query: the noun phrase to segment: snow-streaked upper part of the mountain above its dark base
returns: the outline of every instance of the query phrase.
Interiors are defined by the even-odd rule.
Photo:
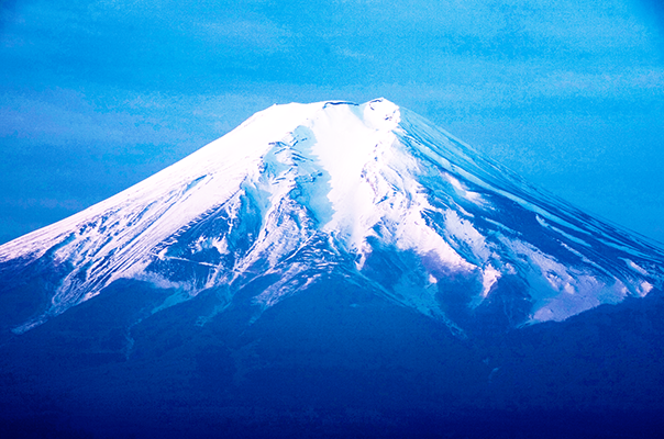
[[[204,324],[259,284],[256,319],[336,273],[463,334],[487,313],[516,327],[645,296],[663,262],[389,101],[292,103],[0,246],[0,304],[22,334],[134,279],[169,291],[152,313],[215,291]]]

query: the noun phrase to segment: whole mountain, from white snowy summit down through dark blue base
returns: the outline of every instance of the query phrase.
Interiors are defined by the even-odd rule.
[[[663,262],[389,101],[275,105],[0,246],[2,419],[518,437],[538,413],[552,437],[571,414],[648,436]]]

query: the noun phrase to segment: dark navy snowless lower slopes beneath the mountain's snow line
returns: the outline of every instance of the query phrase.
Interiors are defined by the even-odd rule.
[[[251,324],[251,304],[197,324],[213,295],[135,323],[162,293],[131,282],[107,293],[0,346],[0,438],[664,431],[660,292],[468,338],[333,281]]]

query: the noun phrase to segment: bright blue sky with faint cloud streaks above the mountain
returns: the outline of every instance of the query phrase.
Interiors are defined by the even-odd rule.
[[[273,103],[378,97],[664,243],[659,1],[0,4],[0,243]]]

